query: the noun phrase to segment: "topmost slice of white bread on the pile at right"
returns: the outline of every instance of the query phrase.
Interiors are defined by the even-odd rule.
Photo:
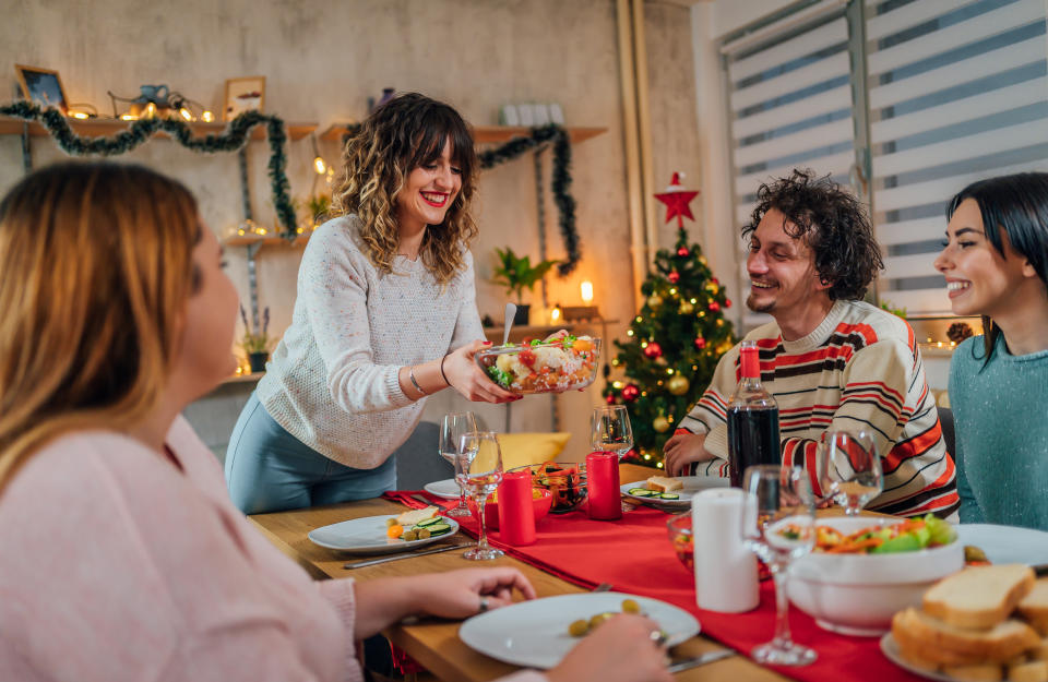
[[[989,629],[1004,621],[1033,587],[1029,566],[975,566],[936,583],[925,593],[924,609],[957,627]]]

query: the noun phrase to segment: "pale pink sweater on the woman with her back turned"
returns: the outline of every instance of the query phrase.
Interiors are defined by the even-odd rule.
[[[362,680],[353,582],[312,581],[259,534],[181,418],[168,446],[182,471],[68,435],[0,494],[0,680]]]

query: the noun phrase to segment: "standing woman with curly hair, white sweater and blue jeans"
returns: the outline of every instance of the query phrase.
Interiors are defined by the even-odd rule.
[[[468,249],[476,172],[462,117],[415,93],[348,141],[336,217],[310,238],[291,326],[227,450],[245,513],[381,495],[426,396],[517,397],[473,361],[487,343]]]

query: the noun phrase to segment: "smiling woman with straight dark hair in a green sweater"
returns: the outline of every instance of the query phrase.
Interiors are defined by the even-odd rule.
[[[961,521],[1048,530],[1048,174],[969,184],[946,217],[936,267],[984,330],[950,364]]]

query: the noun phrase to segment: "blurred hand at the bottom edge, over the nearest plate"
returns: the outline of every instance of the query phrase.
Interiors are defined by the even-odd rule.
[[[669,682],[666,650],[652,633],[658,623],[622,613],[586,635],[548,671],[549,682]]]

